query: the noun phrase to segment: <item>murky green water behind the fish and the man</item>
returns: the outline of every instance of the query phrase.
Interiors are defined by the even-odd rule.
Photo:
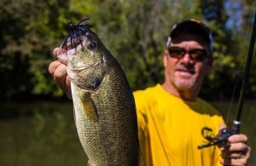
[[[241,133],[256,147],[255,100],[246,101]],[[212,102],[227,117],[230,101]],[[236,110],[236,108],[233,108]],[[231,112],[230,115],[235,115]],[[230,116],[230,122],[234,116]],[[37,101],[2,103],[0,108],[1,166],[84,166],[87,163],[79,142],[71,102]],[[256,165],[256,155],[248,166]]]

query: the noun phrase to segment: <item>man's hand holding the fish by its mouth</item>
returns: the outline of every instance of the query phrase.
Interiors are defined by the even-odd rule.
[[[60,48],[55,48],[53,54],[56,56]],[[49,74],[54,77],[55,83],[61,87],[63,92],[67,94],[69,99],[72,99],[70,78],[67,76],[67,64],[61,63],[59,60],[55,60],[49,64]]]

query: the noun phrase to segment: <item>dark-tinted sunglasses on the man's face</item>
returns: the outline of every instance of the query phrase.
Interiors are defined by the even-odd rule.
[[[169,55],[172,58],[181,59],[183,56],[187,53],[189,53],[189,56],[192,60],[205,60],[208,56],[206,49],[183,49],[180,47],[169,47],[168,48]]]

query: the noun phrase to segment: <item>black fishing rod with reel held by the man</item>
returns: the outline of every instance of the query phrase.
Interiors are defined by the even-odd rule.
[[[247,88],[247,82],[248,82],[250,68],[251,68],[252,59],[253,59],[253,49],[254,49],[255,37],[256,37],[256,11],[254,14],[253,31],[252,31],[252,36],[251,36],[251,40],[249,43],[249,50],[248,50],[248,54],[247,54],[247,63],[246,63],[244,75],[242,78],[241,91],[240,91],[240,96],[239,96],[239,100],[238,100],[236,119],[234,120],[231,128],[220,129],[218,132],[218,135],[216,135],[216,137],[205,136],[204,133],[207,131],[212,131],[212,129],[203,128],[201,131],[202,135],[207,140],[209,140],[209,143],[207,143],[205,145],[198,146],[198,149],[202,149],[202,148],[209,147],[209,146],[215,146],[215,145],[225,146],[225,145],[227,145],[227,140],[230,137],[230,135],[236,135],[240,132],[241,112],[242,112],[242,107],[243,107],[243,103],[245,100],[245,92],[246,92],[246,88]]]

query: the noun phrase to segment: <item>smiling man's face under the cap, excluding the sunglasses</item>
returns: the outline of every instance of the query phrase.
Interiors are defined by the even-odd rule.
[[[182,58],[171,57],[166,50],[164,66],[166,81],[183,91],[199,91],[203,77],[212,69],[212,59],[194,60],[188,53],[192,49],[207,49],[207,44],[201,42],[201,37],[193,35],[179,35],[170,43],[169,47],[179,47],[186,50]]]

